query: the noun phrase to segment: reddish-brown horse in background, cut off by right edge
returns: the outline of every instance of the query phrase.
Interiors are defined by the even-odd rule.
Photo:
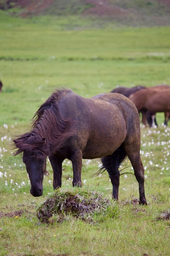
[[[170,86],[157,85],[142,89],[129,96],[137,107],[138,112],[142,113],[142,123],[147,126],[147,111],[152,116],[152,124],[157,112],[165,112],[165,124],[170,112]]]

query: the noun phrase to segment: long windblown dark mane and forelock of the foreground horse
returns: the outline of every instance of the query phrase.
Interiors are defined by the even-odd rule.
[[[48,152],[56,152],[64,145],[72,134],[70,120],[63,118],[59,111],[58,99],[67,92],[66,89],[56,90],[36,111],[32,119],[30,132],[17,136],[14,155],[23,151],[33,153],[37,158],[48,156]]]

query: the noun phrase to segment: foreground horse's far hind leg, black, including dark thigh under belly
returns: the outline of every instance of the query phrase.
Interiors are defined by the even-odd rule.
[[[112,155],[104,156],[101,158],[102,167],[100,171],[107,170],[110,180],[113,186],[113,193],[112,197],[115,200],[118,200],[118,192],[119,192],[119,179],[120,179],[120,172],[118,170],[120,164],[126,157],[126,152],[120,146]]]

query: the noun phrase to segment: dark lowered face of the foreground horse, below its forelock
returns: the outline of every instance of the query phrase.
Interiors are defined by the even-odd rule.
[[[28,154],[24,151],[22,159],[26,165],[26,171],[28,172],[29,179],[31,181],[31,195],[42,196],[42,182],[46,171],[46,158],[38,159],[33,156],[33,154]]]

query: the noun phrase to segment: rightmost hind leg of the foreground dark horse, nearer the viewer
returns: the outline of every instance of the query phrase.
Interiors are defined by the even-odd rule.
[[[139,184],[139,204],[147,204],[144,194],[144,166],[140,158],[140,151],[134,151],[134,145],[131,145],[128,150],[126,148],[126,153],[133,166],[135,177]]]

